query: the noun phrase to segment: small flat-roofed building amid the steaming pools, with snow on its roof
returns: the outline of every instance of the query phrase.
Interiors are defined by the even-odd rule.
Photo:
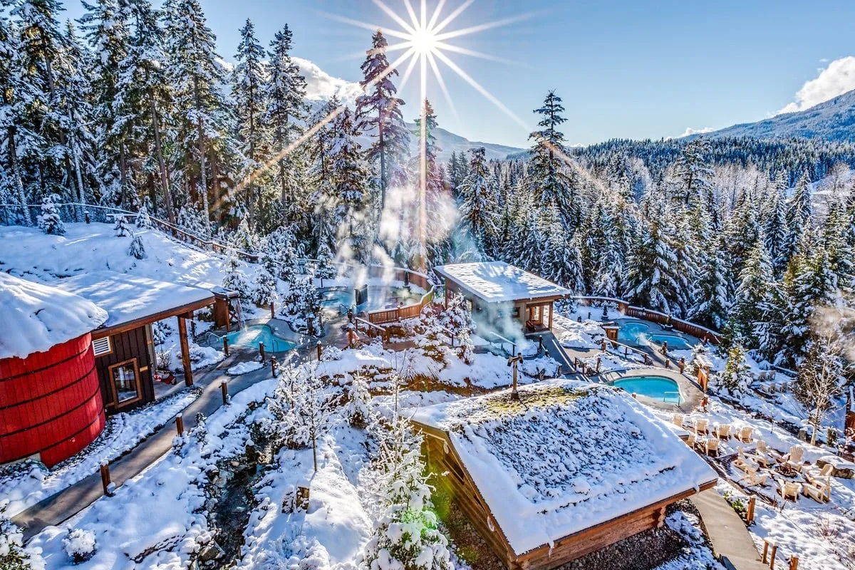
[[[504,261],[456,263],[434,267],[445,278],[445,302],[455,293],[466,298],[476,322],[525,332],[552,328],[552,304],[572,291]]]

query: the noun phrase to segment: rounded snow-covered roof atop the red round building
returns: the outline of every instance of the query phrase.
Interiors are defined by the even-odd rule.
[[[101,326],[107,311],[68,291],[0,273],[0,358],[25,358]]]

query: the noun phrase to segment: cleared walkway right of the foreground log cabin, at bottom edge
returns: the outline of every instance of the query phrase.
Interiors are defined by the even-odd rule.
[[[689,497],[704,520],[712,551],[728,570],[764,570],[754,540],[739,514],[715,489]]]

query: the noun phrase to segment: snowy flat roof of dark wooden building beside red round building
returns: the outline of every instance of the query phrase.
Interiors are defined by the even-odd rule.
[[[214,303],[211,291],[114,271],[92,271],[60,279],[56,286],[106,309],[104,326],[119,326],[192,303]]]

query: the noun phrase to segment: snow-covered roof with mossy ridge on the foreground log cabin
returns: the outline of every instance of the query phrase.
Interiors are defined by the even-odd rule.
[[[644,406],[604,385],[546,380],[420,408],[445,432],[516,555],[697,490],[716,473]]]

